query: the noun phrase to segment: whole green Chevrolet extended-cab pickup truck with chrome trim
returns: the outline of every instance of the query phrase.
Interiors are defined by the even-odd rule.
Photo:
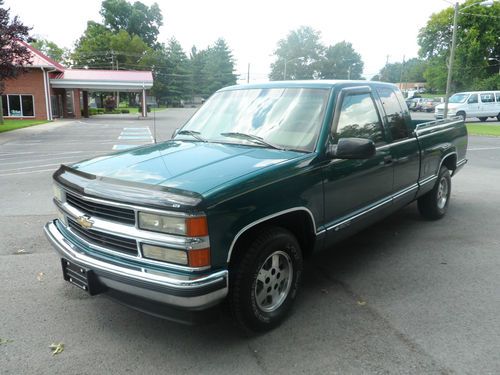
[[[225,301],[265,331],[304,258],[415,200],[443,217],[466,150],[461,119],[412,122],[391,84],[233,86],[169,141],[61,166],[45,232],[91,295],[181,322]]]

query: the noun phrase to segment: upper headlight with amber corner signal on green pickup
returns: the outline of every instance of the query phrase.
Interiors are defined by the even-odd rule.
[[[190,237],[208,235],[207,218],[205,216],[186,218],[139,212],[139,228]]]

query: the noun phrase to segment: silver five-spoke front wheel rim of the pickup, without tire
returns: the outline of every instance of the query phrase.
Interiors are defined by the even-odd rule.
[[[262,264],[255,280],[255,301],[260,310],[271,312],[285,301],[293,280],[293,265],[290,256],[275,251]]]

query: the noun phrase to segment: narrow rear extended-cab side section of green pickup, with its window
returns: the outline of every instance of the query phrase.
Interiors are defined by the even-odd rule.
[[[401,92],[391,87],[378,87],[376,91],[390,137],[386,147],[390,150],[394,166],[394,205],[398,208],[411,202],[417,193],[420,170],[418,141],[410,128],[411,117]]]

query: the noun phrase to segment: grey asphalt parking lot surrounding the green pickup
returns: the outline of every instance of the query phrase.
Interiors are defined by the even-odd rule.
[[[499,138],[470,138],[445,219],[410,205],[307,262],[294,314],[266,335],[242,338],[225,315],[181,326],[64,282],[42,234],[51,173],[167,139],[192,112],[156,113],[156,131],[101,116],[0,134],[0,373],[498,374]]]

